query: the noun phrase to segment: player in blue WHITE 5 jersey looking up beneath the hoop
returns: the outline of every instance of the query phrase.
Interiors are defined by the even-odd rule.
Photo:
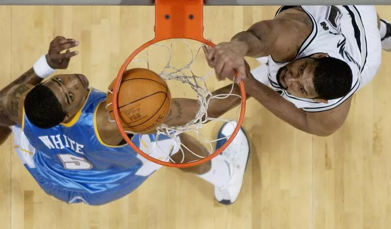
[[[90,88],[84,75],[47,78],[55,69],[67,68],[70,59],[78,54],[70,48],[78,44],[73,39],[55,38],[47,55],[0,91],[0,143],[12,130],[20,159],[47,194],[66,203],[103,205],[132,192],[160,166],[145,160],[125,143],[115,123],[109,122],[106,93]],[[47,80],[43,82],[44,78]],[[230,90],[231,85],[213,94]],[[237,85],[232,93],[240,93]],[[172,101],[165,124],[184,125],[195,117],[197,100]],[[239,102],[236,96],[211,100],[208,116],[217,118]],[[232,125],[224,125],[219,137],[232,131]],[[208,151],[190,136],[182,134],[180,140],[199,155],[207,155]],[[152,155],[167,157],[164,152],[171,149],[173,160],[181,158],[181,153],[176,154],[179,146],[174,139],[159,138],[162,148],[153,147],[154,134],[137,136],[132,141],[154,149]],[[221,144],[223,141],[217,147]],[[192,154],[184,151],[189,154],[187,160],[192,160]],[[248,154],[249,143],[240,130],[221,155],[209,163],[182,170],[214,185],[220,203],[232,204],[239,195]]]

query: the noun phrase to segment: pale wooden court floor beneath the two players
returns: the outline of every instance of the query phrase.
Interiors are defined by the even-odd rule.
[[[205,37],[228,41],[277,9],[205,7]],[[377,9],[391,20],[391,6]],[[1,86],[62,35],[81,42],[80,54],[58,72],[83,73],[106,90],[130,52],[152,39],[153,18],[153,7],[2,6]],[[252,154],[239,199],[229,207],[214,200],[211,185],[173,168],[106,206],[63,204],[36,184],[10,138],[0,146],[0,228],[389,229],[391,53],[383,52],[382,61],[375,79],[354,96],[346,124],[330,137],[298,131],[250,99],[244,127]]]

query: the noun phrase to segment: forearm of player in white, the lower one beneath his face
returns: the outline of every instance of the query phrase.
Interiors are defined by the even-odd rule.
[[[268,86],[256,82],[248,81],[246,91],[266,109],[286,123],[310,134],[317,134],[308,125],[307,115],[302,109],[297,108],[294,104],[286,101],[276,91]]]

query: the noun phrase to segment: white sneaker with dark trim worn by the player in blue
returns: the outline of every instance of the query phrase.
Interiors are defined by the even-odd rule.
[[[221,126],[217,139],[231,136],[237,122],[229,122]],[[216,149],[220,148],[228,138],[217,141]],[[224,205],[233,204],[239,196],[243,182],[244,171],[247,167],[250,145],[244,130],[240,128],[234,141],[223,151],[221,155],[229,165],[231,179],[223,186],[215,186],[215,198]]]

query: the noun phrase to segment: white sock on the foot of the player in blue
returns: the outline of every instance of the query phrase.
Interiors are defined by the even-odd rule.
[[[211,170],[207,173],[197,176],[216,187],[221,187],[227,184],[227,182],[231,179],[231,175],[229,174],[228,164],[223,159],[223,156],[217,155],[217,157],[213,158],[211,162]]]

